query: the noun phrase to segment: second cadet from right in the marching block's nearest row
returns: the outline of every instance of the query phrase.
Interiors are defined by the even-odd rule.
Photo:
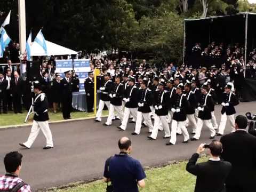
[[[199,112],[198,112],[198,119],[197,119],[196,134],[194,135],[193,138],[190,139],[191,141],[199,140],[204,124],[210,130],[210,133],[211,133],[210,139],[214,139],[216,134],[216,131],[213,129],[213,126],[211,123],[211,118],[212,118],[211,111],[214,108],[214,101],[212,99],[211,94],[208,94],[207,90],[208,90],[208,86],[202,85],[201,87],[202,97],[201,97],[200,105],[197,108]]]

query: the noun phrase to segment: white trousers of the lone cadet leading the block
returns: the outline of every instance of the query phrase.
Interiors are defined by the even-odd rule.
[[[36,140],[40,130],[42,130],[44,137],[46,138],[46,147],[53,147],[52,132],[50,130],[48,121],[38,122],[34,120],[28,140],[23,144],[30,148]]]

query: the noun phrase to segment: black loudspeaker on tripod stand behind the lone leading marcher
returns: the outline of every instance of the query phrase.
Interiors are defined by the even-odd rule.
[[[40,61],[27,61],[27,79],[28,81],[35,81],[40,77]]]

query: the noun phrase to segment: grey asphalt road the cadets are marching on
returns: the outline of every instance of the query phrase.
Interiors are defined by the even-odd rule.
[[[240,103],[236,107],[237,114],[256,112],[255,104],[256,102]],[[219,122],[220,106],[215,107],[215,115]],[[210,141],[209,130],[205,127],[199,141],[183,144],[183,136],[179,136],[177,145],[165,146],[163,132],[159,132],[157,140],[150,141],[147,139],[147,128],[142,129],[141,135],[133,136],[131,133],[135,124],[130,123],[125,132],[119,131],[117,125],[119,121],[114,121],[112,126],[103,127],[101,123],[94,123],[93,119],[51,124],[55,147],[50,150],[43,150],[45,138],[42,132],[31,149],[18,146],[19,142],[27,140],[30,127],[0,130],[0,174],[5,173],[4,155],[19,150],[24,156],[20,177],[29,183],[33,190],[44,189],[101,177],[106,158],[118,153],[117,141],[122,136],[132,139],[132,156],[139,159],[143,166],[187,159],[200,143]],[[228,132],[230,129],[227,126],[226,133]]]

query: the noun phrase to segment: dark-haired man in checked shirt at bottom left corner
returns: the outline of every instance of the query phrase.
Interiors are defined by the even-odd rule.
[[[4,157],[6,174],[0,176],[0,191],[30,192],[30,186],[19,178],[22,154],[13,151]]]

